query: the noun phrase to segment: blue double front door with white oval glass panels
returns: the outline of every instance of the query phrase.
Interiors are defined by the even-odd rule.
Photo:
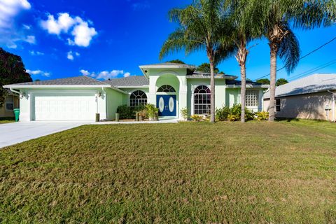
[[[156,107],[160,117],[175,117],[176,95],[156,95]]]

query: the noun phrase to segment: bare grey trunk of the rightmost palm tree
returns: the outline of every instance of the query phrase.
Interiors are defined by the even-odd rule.
[[[271,83],[269,90],[269,122],[274,122],[275,117],[275,83],[276,83],[276,55],[278,52],[278,48],[276,43],[269,43],[269,47],[271,49]]]

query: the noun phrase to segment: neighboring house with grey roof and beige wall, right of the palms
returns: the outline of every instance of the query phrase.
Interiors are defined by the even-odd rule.
[[[276,87],[277,118],[335,121],[336,74],[314,74]],[[264,96],[269,108],[269,92]]]

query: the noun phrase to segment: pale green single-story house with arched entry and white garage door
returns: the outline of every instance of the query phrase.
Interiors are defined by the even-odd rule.
[[[20,92],[20,120],[113,120],[118,106],[155,104],[162,118],[182,120],[189,115],[209,114],[210,75],[186,64],[140,66],[144,76],[96,80],[87,76],[6,85]],[[240,103],[237,76],[216,74],[216,107]],[[248,83],[246,106],[262,111],[263,92],[268,85]]]

